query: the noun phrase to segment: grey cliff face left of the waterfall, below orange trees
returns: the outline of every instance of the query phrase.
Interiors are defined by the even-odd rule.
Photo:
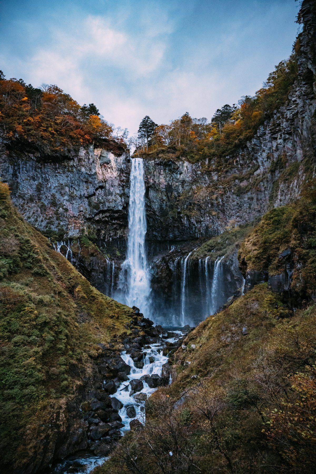
[[[127,153],[116,156],[93,146],[58,163],[32,155],[0,159],[0,176],[27,221],[66,237],[87,232],[104,240],[126,237],[129,173]]]

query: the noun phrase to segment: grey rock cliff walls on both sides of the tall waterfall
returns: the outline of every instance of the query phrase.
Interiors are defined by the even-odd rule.
[[[226,157],[225,167],[218,169],[211,160],[192,163],[185,151],[179,155],[171,147],[146,155],[146,239],[156,292],[164,291],[164,283],[157,282],[175,268],[179,256],[227,226],[253,222],[267,210],[296,200],[303,183],[315,177],[316,27],[311,2],[304,3],[301,14],[298,78],[288,101],[246,146]],[[74,239],[75,247],[82,234],[94,237],[107,256],[97,247],[85,255],[78,244],[72,248],[72,263],[100,291],[111,287],[111,294],[125,258],[130,169],[128,150],[93,145],[58,162],[10,150],[0,156],[1,179],[29,223]],[[172,248],[180,254],[169,255]],[[194,253],[190,258],[195,259]],[[242,278],[233,271],[235,249],[226,263],[234,258],[230,266],[236,290]]]

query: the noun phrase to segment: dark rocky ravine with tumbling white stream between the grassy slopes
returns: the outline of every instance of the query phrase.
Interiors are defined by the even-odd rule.
[[[99,353],[91,354],[93,370],[83,379],[80,393],[69,406],[68,431],[59,438],[53,452],[47,451],[42,466],[37,468],[45,469],[75,453],[83,458],[107,456],[122,437],[122,430],[140,424],[136,416],[144,412],[147,392],[150,394],[169,383],[171,367],[166,356],[181,344],[180,334],[168,333],[161,326],[153,327],[153,321],[144,318],[137,308],[128,328],[132,329],[132,336],[99,344]],[[130,360],[130,365],[122,357]],[[162,367],[160,361],[165,362]],[[143,369],[144,365],[148,374],[137,379],[137,371],[141,372],[137,369]],[[126,405],[121,401],[122,390],[126,393],[123,397]]]

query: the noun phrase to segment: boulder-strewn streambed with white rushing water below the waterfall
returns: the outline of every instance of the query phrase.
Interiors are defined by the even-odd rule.
[[[181,345],[190,328],[154,327],[138,308],[133,309],[133,335],[122,341],[120,350],[112,343],[100,344],[102,354],[95,362],[103,380],[95,383],[81,403],[80,443],[72,456],[52,467],[51,473],[88,474],[102,464],[127,430],[144,423],[147,398],[171,382],[168,354]]]

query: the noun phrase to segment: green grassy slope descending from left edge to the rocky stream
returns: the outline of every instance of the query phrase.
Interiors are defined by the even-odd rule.
[[[89,376],[89,354],[98,352],[98,342],[125,331],[129,315],[129,308],[94,289],[22,219],[1,183],[2,464],[40,459],[38,440],[63,430],[65,405],[81,377]]]

